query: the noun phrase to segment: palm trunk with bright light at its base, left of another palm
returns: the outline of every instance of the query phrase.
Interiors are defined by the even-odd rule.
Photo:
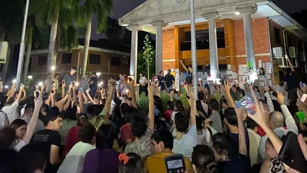
[[[49,39],[49,51],[48,51],[48,61],[47,61],[47,72],[50,74],[52,73],[51,67],[53,66],[54,60],[54,50],[55,50],[55,39],[56,39],[56,32],[57,32],[57,25],[58,25],[58,16],[57,13],[55,21],[51,24],[50,30],[50,39]]]

